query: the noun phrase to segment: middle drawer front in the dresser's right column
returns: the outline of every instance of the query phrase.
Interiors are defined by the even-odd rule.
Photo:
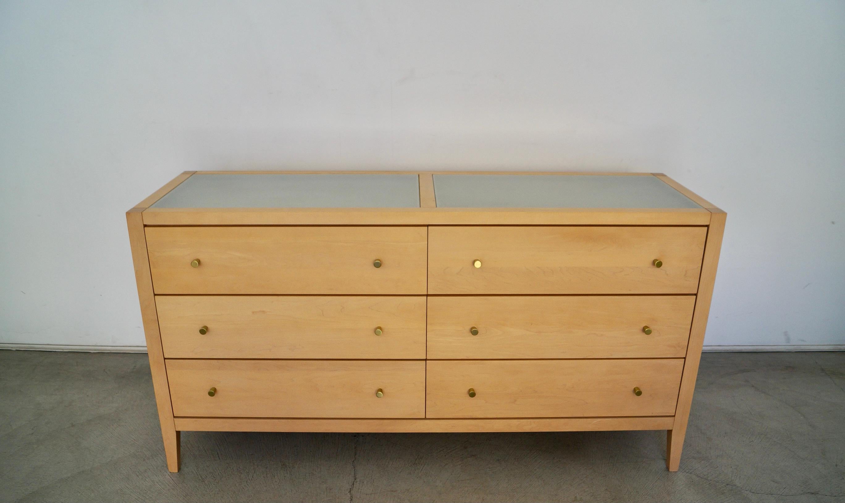
[[[428,358],[683,358],[694,307],[692,295],[432,297]]]

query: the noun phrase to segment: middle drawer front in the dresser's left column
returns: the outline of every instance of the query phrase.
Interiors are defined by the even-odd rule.
[[[425,358],[425,297],[159,295],[155,307],[165,358]]]

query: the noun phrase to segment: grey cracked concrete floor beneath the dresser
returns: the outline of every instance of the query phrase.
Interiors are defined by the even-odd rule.
[[[0,351],[2,501],[845,500],[845,353],[705,353],[678,473],[662,431],[184,433],[144,354]]]

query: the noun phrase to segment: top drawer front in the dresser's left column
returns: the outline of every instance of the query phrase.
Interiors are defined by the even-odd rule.
[[[426,234],[426,227],[146,228],[155,293],[424,294]]]

